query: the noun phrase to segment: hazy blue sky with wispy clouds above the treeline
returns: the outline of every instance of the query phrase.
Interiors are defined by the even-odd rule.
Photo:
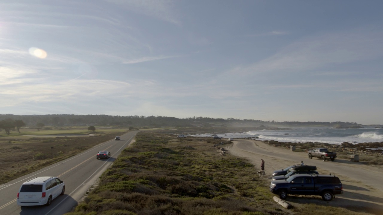
[[[0,0],[0,114],[383,124],[381,8]]]

